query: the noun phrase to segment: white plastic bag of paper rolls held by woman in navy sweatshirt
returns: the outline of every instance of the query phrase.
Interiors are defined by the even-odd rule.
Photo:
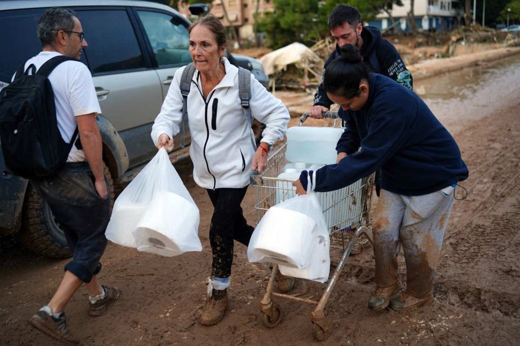
[[[327,230],[315,193],[272,206],[258,223],[248,246],[250,262],[308,267],[317,230]]]

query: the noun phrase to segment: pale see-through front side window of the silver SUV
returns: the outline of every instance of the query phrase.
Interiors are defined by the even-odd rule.
[[[159,67],[183,66],[191,62],[188,27],[175,16],[137,11]]]

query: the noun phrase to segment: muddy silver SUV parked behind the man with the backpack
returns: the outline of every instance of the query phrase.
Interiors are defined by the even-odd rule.
[[[152,122],[175,71],[191,62],[190,22],[171,7],[145,1],[0,0],[3,32],[12,33],[0,35],[0,89],[20,64],[41,51],[36,25],[54,6],[73,9],[81,20],[88,42],[81,61],[94,78],[102,111],[97,121],[105,171],[117,186],[125,172],[157,151],[150,139]],[[236,60],[252,66],[250,59]],[[185,142],[190,143],[189,132]],[[180,148],[179,136],[175,147]],[[173,159],[187,155],[180,149]],[[0,151],[0,234],[6,233],[18,233],[25,246],[45,256],[70,256],[49,207],[27,180],[6,172]]]

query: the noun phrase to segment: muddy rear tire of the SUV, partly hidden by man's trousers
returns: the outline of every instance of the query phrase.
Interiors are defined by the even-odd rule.
[[[114,190],[112,176],[103,164],[110,191]],[[114,204],[114,194],[111,194]],[[68,258],[72,254],[67,239],[48,204],[29,183],[25,196],[20,241],[29,250],[49,258]]]

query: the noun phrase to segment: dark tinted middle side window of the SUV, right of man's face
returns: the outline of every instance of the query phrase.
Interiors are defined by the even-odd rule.
[[[88,46],[85,55],[93,74],[145,67],[126,10],[79,10]]]

